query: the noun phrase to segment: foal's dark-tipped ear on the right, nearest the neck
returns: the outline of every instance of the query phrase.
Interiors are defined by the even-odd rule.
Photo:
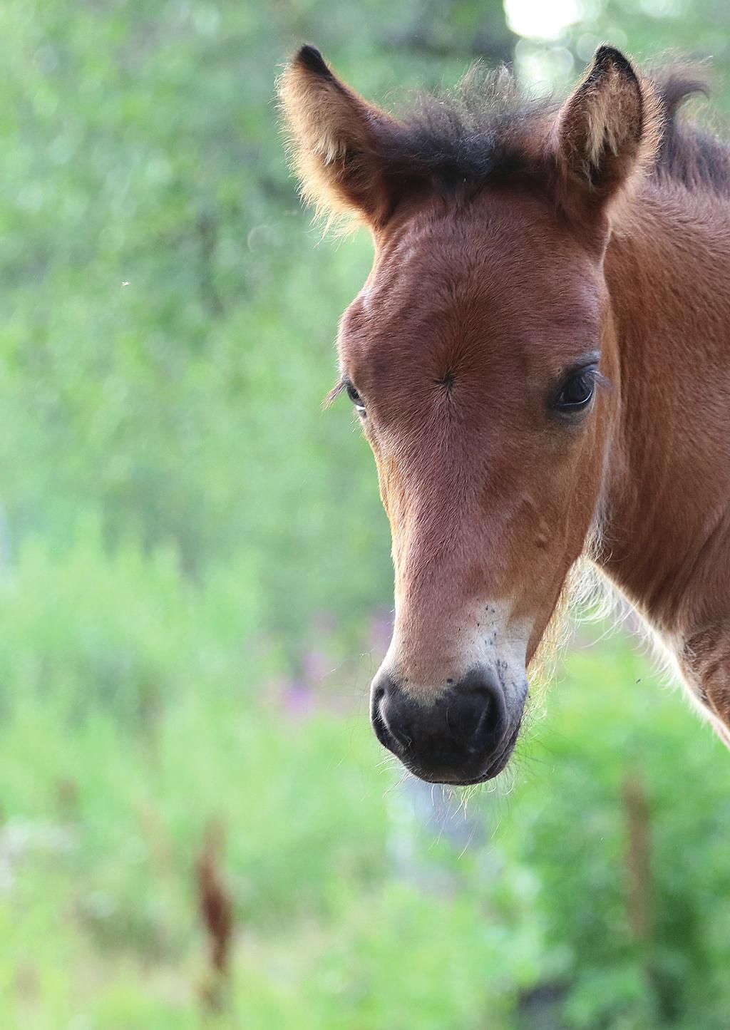
[[[655,108],[653,93],[624,55],[599,46],[554,126],[563,188],[599,205],[621,190],[654,152]]]

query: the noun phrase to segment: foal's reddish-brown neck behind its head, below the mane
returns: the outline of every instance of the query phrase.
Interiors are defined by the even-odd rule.
[[[665,634],[728,616],[730,202],[650,183],[605,260],[620,410],[599,563]]]

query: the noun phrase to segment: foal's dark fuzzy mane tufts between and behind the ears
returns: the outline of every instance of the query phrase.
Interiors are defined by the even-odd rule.
[[[648,75],[659,99],[662,132],[652,172],[688,190],[730,196],[730,147],[681,113],[706,84],[683,68]],[[534,98],[507,68],[473,68],[449,93],[422,94],[402,113],[398,131],[382,141],[390,167],[450,190],[479,188],[544,174],[536,144],[557,110],[553,97]]]

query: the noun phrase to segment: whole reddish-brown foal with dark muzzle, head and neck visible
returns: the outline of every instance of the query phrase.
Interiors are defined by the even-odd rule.
[[[282,76],[305,197],[375,243],[340,388],[392,529],[373,725],[425,780],[503,768],[588,551],[730,741],[730,151],[676,119],[699,89],[609,46],[559,107],[502,71],[396,118],[310,46]]]

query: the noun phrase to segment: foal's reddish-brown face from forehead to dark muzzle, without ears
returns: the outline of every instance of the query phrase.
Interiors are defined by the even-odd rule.
[[[423,779],[480,782],[510,757],[596,508],[610,335],[599,254],[508,192],[404,212],[342,320],[395,571],[372,721]]]

